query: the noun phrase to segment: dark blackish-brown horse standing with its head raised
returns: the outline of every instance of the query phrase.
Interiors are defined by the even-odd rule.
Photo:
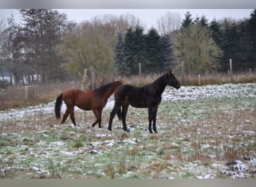
[[[129,105],[135,108],[148,108],[148,130],[152,132],[151,126],[153,121],[153,131],[156,131],[156,112],[158,105],[162,100],[162,93],[165,86],[170,85],[174,88],[180,88],[180,82],[171,73],[160,76],[153,83],[144,85],[143,87],[135,87],[132,85],[120,85],[115,89],[115,105],[109,118],[109,130],[112,131],[112,120],[115,114],[118,113],[118,118],[123,122],[124,131],[127,129],[126,117]]]

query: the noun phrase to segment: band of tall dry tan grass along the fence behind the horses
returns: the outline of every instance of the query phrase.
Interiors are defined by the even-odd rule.
[[[174,75],[176,75],[174,73]],[[124,78],[124,84],[142,86],[149,84],[159,78],[160,74],[144,76],[132,76]],[[182,77],[176,75],[181,85],[199,85],[198,76]],[[117,78],[120,79],[120,78]],[[230,83],[231,79],[227,74],[214,73],[201,76],[200,85],[222,85]],[[256,82],[255,73],[234,73],[233,83]],[[100,85],[97,82],[97,85]],[[87,85],[88,87],[88,85]],[[0,110],[7,108],[20,108],[26,105],[37,105],[55,99],[62,91],[70,88],[80,88],[80,82],[49,83],[45,85],[13,86],[0,90]],[[25,90],[27,89],[27,92]]]

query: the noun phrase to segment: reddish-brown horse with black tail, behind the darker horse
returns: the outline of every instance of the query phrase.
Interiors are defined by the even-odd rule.
[[[94,112],[97,120],[92,124],[95,126],[99,123],[99,127],[101,128],[101,114],[103,108],[106,106],[106,102],[109,99],[109,96],[114,93],[115,88],[118,85],[121,85],[121,81],[112,82],[108,85],[103,85],[100,88],[94,89],[92,91],[80,91],[78,89],[70,89],[61,93],[55,102],[55,116],[57,118],[61,118],[61,104],[64,100],[67,105],[67,110],[63,116],[61,124],[65,122],[68,115],[70,114],[70,118],[76,126],[75,116],[74,116],[74,107],[75,105],[82,110],[92,110]]]

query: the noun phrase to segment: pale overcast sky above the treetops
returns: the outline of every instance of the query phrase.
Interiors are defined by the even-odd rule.
[[[122,13],[131,13],[132,15],[141,19],[141,22],[147,28],[151,26],[156,28],[156,21],[165,13],[180,13],[182,19],[186,11],[192,14],[192,18],[196,16],[206,16],[209,22],[212,19],[223,19],[225,17],[233,19],[249,18],[253,9],[58,9],[62,13],[67,13],[68,19],[75,22],[82,22],[90,20],[94,16],[112,13],[114,15],[121,15]],[[0,16],[2,19],[10,17],[11,13],[19,22],[19,10],[16,9],[0,9]]]

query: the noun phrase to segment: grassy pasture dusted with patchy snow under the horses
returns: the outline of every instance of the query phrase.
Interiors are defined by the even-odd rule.
[[[0,178],[255,178],[255,83],[165,88],[156,134],[147,132],[147,108],[132,107],[130,132],[118,117],[109,132],[113,96],[102,129],[78,108],[76,127],[60,124],[54,105],[0,111]]]

